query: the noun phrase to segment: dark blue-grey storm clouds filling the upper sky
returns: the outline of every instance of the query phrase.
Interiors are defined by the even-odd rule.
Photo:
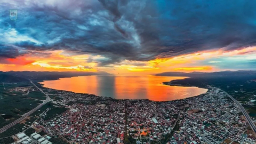
[[[0,33],[15,34],[0,34],[0,44],[102,55],[105,59],[94,60],[99,66],[256,44],[256,1],[6,1],[0,6]],[[18,19],[11,21],[9,8],[15,6]],[[0,57],[18,55],[15,49],[0,51]]]

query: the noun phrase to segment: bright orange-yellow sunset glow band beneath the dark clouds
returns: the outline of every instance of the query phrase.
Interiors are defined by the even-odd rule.
[[[101,55],[90,54],[69,55],[66,51],[47,51],[47,57],[37,57],[31,53],[24,54],[17,58],[2,60],[0,68],[3,71],[9,70],[30,70],[30,71],[107,71],[113,74],[154,74],[164,71],[218,71],[215,66],[218,59],[253,59],[256,47],[246,47],[234,51],[202,51],[191,54],[179,55],[171,58],[156,58],[149,61],[124,60],[110,65],[110,67],[98,66],[97,59],[104,58]],[[86,62],[88,59],[91,62]],[[202,61],[206,61],[202,65]],[[194,66],[191,66],[194,65]]]

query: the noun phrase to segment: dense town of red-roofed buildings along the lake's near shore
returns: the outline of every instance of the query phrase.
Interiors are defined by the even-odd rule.
[[[24,94],[33,87],[15,88]],[[216,87],[183,100],[116,100],[42,87],[52,107],[33,113],[35,131],[13,135],[13,143],[255,143],[239,107]],[[65,108],[49,115],[54,108]],[[255,118],[253,119],[255,121]],[[24,129],[25,131],[25,129]],[[26,131],[25,131],[26,132]],[[41,135],[41,134],[42,135]]]

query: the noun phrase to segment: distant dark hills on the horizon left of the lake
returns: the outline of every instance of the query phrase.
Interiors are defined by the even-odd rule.
[[[23,77],[34,81],[55,80],[63,77],[91,76],[91,75],[111,75],[105,71],[85,72],[85,71],[0,71],[0,74],[7,74],[17,77]]]

